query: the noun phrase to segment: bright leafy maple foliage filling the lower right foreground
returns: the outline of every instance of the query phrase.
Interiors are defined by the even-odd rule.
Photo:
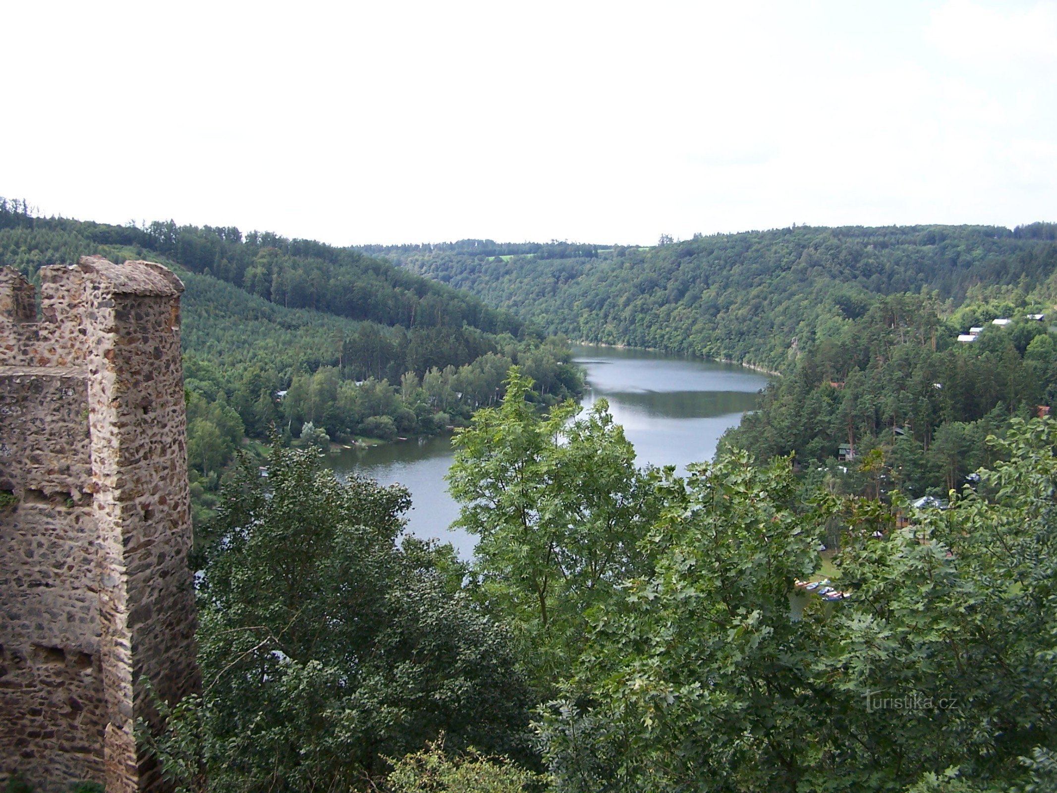
[[[902,530],[869,499],[792,509],[783,461],[670,480],[656,572],[594,621],[545,715],[559,790],[1045,790],[1057,428],[1015,421],[994,443],[994,498],[967,490]],[[851,596],[792,619],[833,518]]]

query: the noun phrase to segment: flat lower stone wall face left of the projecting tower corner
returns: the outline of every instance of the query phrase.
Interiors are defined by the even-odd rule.
[[[0,369],[0,746],[69,779],[103,777],[88,388],[82,371]]]

